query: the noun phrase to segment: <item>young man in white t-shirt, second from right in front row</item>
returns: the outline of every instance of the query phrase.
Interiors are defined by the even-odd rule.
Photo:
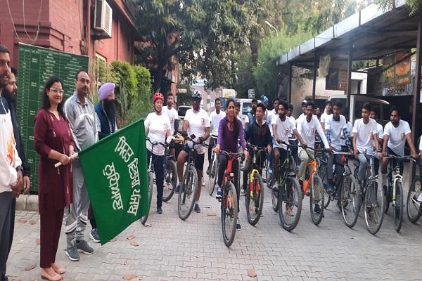
[[[375,156],[373,160],[375,164],[375,171],[378,174],[379,161],[378,158],[376,158],[376,152],[373,151],[373,148],[375,148],[376,151],[380,148],[378,142],[378,130],[376,128],[376,121],[369,117],[370,114],[371,104],[364,103],[362,108],[362,119],[354,121],[352,129],[354,157],[357,157],[359,161],[359,172],[357,176],[359,185],[362,185],[362,182],[365,179],[366,166],[369,164],[369,157],[359,154],[363,153],[364,150],[366,150],[367,154]],[[381,152],[378,154],[378,157],[382,157]]]

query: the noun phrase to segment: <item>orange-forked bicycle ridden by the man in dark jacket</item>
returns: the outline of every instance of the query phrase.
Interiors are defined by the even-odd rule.
[[[262,168],[260,168],[260,162],[257,161],[258,157],[265,157],[267,148],[260,148],[255,145],[248,145],[248,148],[252,148],[253,157],[250,166],[250,172],[248,174],[249,188],[246,188],[245,192],[245,206],[246,216],[248,216],[248,222],[250,225],[255,226],[260,220],[262,214],[262,207],[264,205],[264,181],[262,181]],[[264,156],[262,156],[262,154]],[[240,178],[240,174],[239,177]]]

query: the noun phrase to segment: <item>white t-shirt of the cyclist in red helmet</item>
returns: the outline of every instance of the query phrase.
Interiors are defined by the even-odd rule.
[[[165,143],[165,134],[170,129],[170,120],[167,115],[161,113],[157,115],[156,112],[151,112],[143,122],[145,129],[148,129],[148,138],[152,143]],[[146,141],[146,148],[151,151],[152,144]],[[153,154],[164,155],[164,148],[162,145],[154,145]]]

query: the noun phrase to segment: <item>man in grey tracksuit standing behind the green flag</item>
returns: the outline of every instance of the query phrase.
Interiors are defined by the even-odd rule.
[[[79,71],[76,75],[76,91],[65,103],[65,115],[68,118],[76,150],[80,151],[98,141],[94,105],[88,100],[89,74]],[[65,233],[68,237],[66,255],[71,261],[79,261],[79,251],[84,254],[94,253],[84,240],[87,226],[89,196],[84,174],[79,160],[72,162],[73,169],[73,204],[66,208]]]

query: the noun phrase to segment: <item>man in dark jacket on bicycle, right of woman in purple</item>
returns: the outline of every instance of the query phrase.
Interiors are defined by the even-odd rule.
[[[265,111],[265,105],[259,103],[255,109],[255,122],[248,124],[248,129],[245,133],[245,141],[248,141],[249,144],[260,148],[267,148],[267,152],[271,153],[272,138],[269,126],[264,120]],[[252,153],[253,150],[249,149],[250,156],[245,159],[245,166],[243,167],[243,189],[241,190],[241,195],[245,195],[246,186],[248,184],[248,174],[250,172],[253,159]],[[264,166],[265,152],[261,152],[260,155],[257,155],[257,162],[260,165],[260,168]]]

